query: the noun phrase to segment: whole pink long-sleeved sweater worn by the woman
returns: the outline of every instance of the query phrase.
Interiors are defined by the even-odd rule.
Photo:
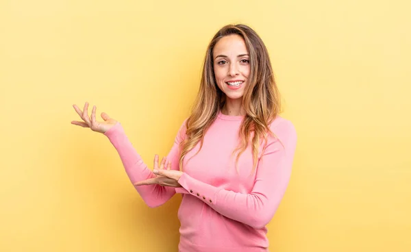
[[[264,153],[260,148],[256,173],[251,173],[253,159],[249,147],[240,155],[237,173],[236,155],[231,154],[238,144],[242,118],[219,113],[206,133],[201,151],[194,155],[199,149],[197,144],[184,159],[184,175],[179,179],[182,188],[135,186],[149,207],[164,204],[175,193],[182,194],[178,211],[180,252],[268,251],[265,226],[286,191],[297,134],[290,121],[277,116],[270,127],[284,147],[270,137]],[[186,137],[185,123],[167,155],[174,170],[179,169],[179,142]],[[132,183],[155,177],[120,123],[105,132],[105,136],[118,151]]]

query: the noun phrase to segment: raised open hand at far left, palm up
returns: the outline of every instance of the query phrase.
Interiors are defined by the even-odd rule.
[[[101,113],[101,118],[103,118],[104,121],[99,122],[96,121],[96,106],[92,107],[92,112],[91,112],[91,118],[88,116],[88,103],[84,105],[84,111],[80,110],[77,105],[73,105],[73,108],[75,109],[75,112],[79,114],[80,118],[82,118],[83,121],[71,121],[71,124],[73,125],[78,125],[81,127],[86,127],[90,128],[92,131],[100,132],[104,134],[107,132],[109,129],[111,129],[114,125],[116,125],[117,121],[110,118],[108,114],[105,114],[104,112]]]

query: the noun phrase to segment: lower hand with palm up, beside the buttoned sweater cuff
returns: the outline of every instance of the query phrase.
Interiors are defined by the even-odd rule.
[[[155,155],[153,173],[156,175],[156,177],[138,181],[134,183],[134,186],[159,184],[160,186],[182,187],[178,183],[178,179],[182,177],[183,172],[171,170],[171,161],[167,162],[166,169],[164,169],[165,163],[166,159],[163,157],[160,167],[158,167],[158,155]]]

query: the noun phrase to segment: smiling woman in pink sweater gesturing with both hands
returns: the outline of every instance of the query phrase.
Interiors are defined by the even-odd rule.
[[[227,25],[206,52],[192,114],[153,172],[121,124],[96,107],[83,122],[110,139],[142,199],[157,207],[182,194],[179,251],[268,251],[266,225],[290,178],[297,134],[278,115],[280,99],[264,43],[247,25]]]

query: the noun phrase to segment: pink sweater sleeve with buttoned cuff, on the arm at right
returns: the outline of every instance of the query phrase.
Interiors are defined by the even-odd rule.
[[[256,229],[265,227],[273,218],[288,186],[297,134],[289,121],[274,131],[281,140],[271,140],[258,161],[256,180],[249,194],[233,192],[206,184],[184,173],[176,192],[192,194],[216,212]],[[284,147],[283,147],[284,144]]]

